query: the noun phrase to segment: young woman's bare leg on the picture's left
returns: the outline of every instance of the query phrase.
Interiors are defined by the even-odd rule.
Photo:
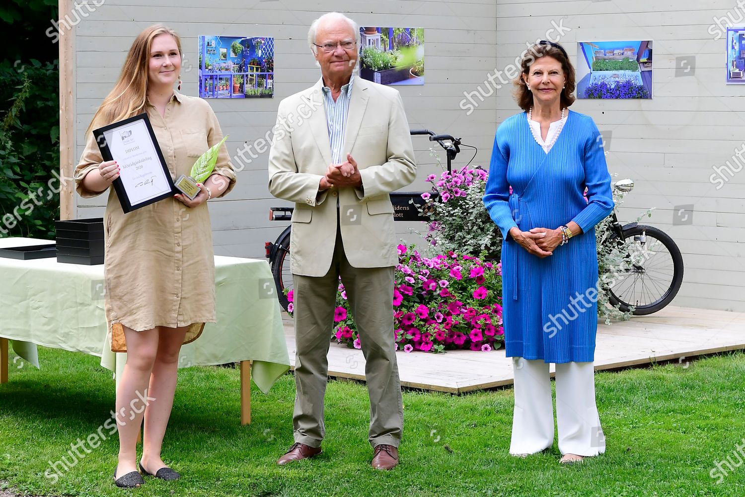
[[[116,390],[115,422],[119,431],[116,478],[137,470],[137,437],[148,395],[152,396],[148,384],[158,350],[157,329],[136,332],[124,326],[124,338],[127,340],[127,364]]]

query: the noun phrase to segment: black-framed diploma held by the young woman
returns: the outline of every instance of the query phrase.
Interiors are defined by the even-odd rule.
[[[147,114],[93,130],[93,136],[104,161],[115,160],[121,168],[112,184],[124,212],[171,197],[176,192]]]

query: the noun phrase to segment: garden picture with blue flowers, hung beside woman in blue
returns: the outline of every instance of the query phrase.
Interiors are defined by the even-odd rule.
[[[577,43],[577,98],[652,98],[652,42]]]

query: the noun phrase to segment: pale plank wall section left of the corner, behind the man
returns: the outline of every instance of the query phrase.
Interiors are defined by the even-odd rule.
[[[199,0],[107,0],[77,26],[77,156],[82,153],[83,133],[115,82],[131,42],[148,25],[162,22],[180,34],[186,57],[183,92],[187,95],[197,95],[197,37],[274,37],[274,98],[209,100],[223,132],[230,135],[229,151],[235,153],[244,142],[254,142],[273,127],[282,98],[313,85],[320,77],[308,48],[308,27],[318,16],[340,7],[335,1],[303,0],[223,0],[212,4]],[[370,13],[373,8],[363,0],[344,2],[343,7],[361,25],[425,28],[426,84],[398,86],[410,127],[463,136],[466,143],[478,147],[475,163],[488,162],[495,102],[487,102],[469,116],[458,109],[458,104],[463,91],[473,86],[472,81],[482,80],[495,66],[495,2],[381,0],[375,2],[375,13]],[[422,189],[425,177],[436,172],[437,166],[429,153],[430,142],[419,138],[415,145],[420,168],[411,189]],[[267,190],[267,156],[262,154],[238,174],[238,185],[229,197],[210,203],[215,253],[262,257],[264,241],[276,238],[286,226],[268,221],[269,207],[285,203],[271,197]],[[457,163],[464,165],[472,156],[473,152],[466,149],[464,160]],[[102,215],[105,198],[78,197],[76,202],[77,218],[83,218]],[[402,223],[399,230],[403,235],[408,227]]]

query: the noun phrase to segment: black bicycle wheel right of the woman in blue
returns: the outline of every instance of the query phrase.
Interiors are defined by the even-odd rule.
[[[623,267],[613,275],[609,300],[621,311],[645,316],[659,311],[675,298],[683,281],[683,258],[667,233],[638,224],[624,229],[624,241],[612,238],[624,255]]]

